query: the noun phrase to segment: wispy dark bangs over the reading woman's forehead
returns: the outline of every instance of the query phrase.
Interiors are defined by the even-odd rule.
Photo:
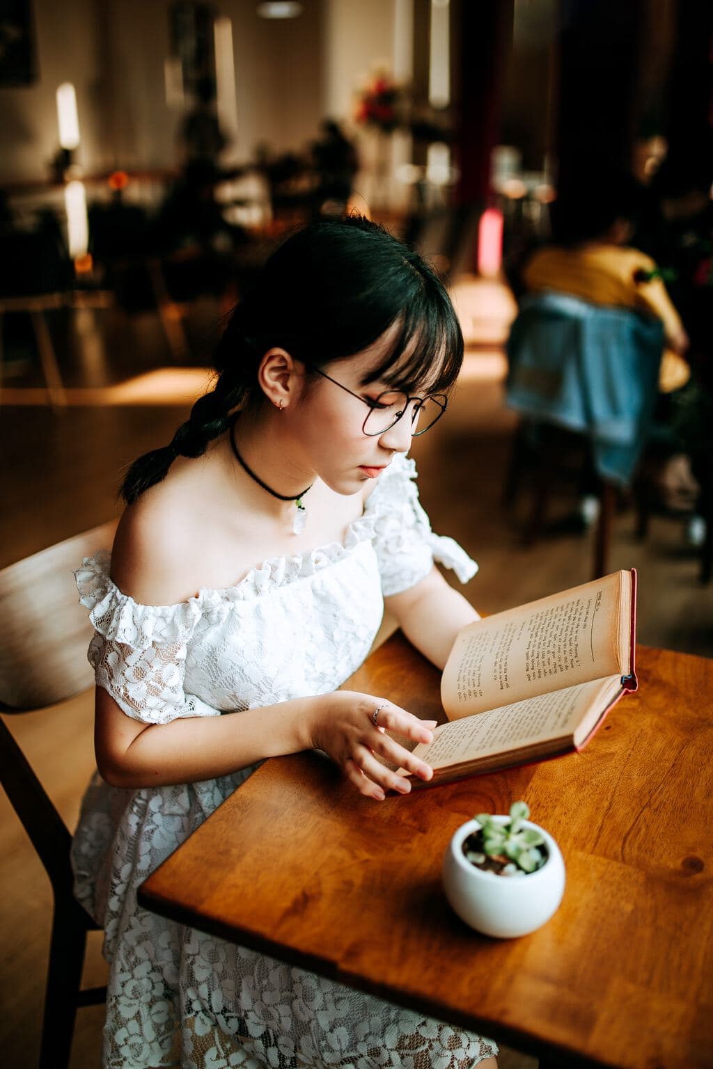
[[[394,322],[399,332],[363,385],[381,379],[405,393],[448,393],[463,362],[463,334],[447,294],[414,303]]]

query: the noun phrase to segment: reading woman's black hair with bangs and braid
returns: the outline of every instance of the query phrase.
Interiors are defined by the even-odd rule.
[[[394,323],[400,329],[370,381],[410,393],[449,390],[463,360],[463,336],[443,283],[418,253],[358,215],[297,231],[231,312],[215,354],[213,390],[199,398],[169,446],[134,462],[121,487],[124,500],[160,482],[176,456],[202,455],[236,409],[255,403],[258,367],[273,346],[309,372],[360,353]]]

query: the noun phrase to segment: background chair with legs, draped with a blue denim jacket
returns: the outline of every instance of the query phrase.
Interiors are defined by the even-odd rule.
[[[595,496],[593,577],[607,571],[617,492],[631,486],[652,424],[662,352],[658,321],[568,294],[526,296],[511,328],[506,403],[522,422],[505,503],[527,481],[533,542],[558,481]]]

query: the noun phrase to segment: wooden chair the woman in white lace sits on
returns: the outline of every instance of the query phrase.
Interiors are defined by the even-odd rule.
[[[0,571],[0,710],[45,709],[87,690],[92,634],[79,605],[73,569],[109,548],[115,522],[103,524]],[[52,885],[55,909],[40,1053],[41,1069],[69,1063],[78,1006],[106,998],[106,988],[81,990],[87,932],[97,926],[73,895],[72,835],[0,717],[0,783],[32,840]]]

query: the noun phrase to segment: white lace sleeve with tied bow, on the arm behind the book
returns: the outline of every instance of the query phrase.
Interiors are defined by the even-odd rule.
[[[373,545],[385,598],[419,583],[434,560],[452,568],[461,583],[467,583],[478,571],[478,564],[458,542],[433,533],[415,479],[416,464],[399,454],[367,501],[365,517],[373,523]]]

